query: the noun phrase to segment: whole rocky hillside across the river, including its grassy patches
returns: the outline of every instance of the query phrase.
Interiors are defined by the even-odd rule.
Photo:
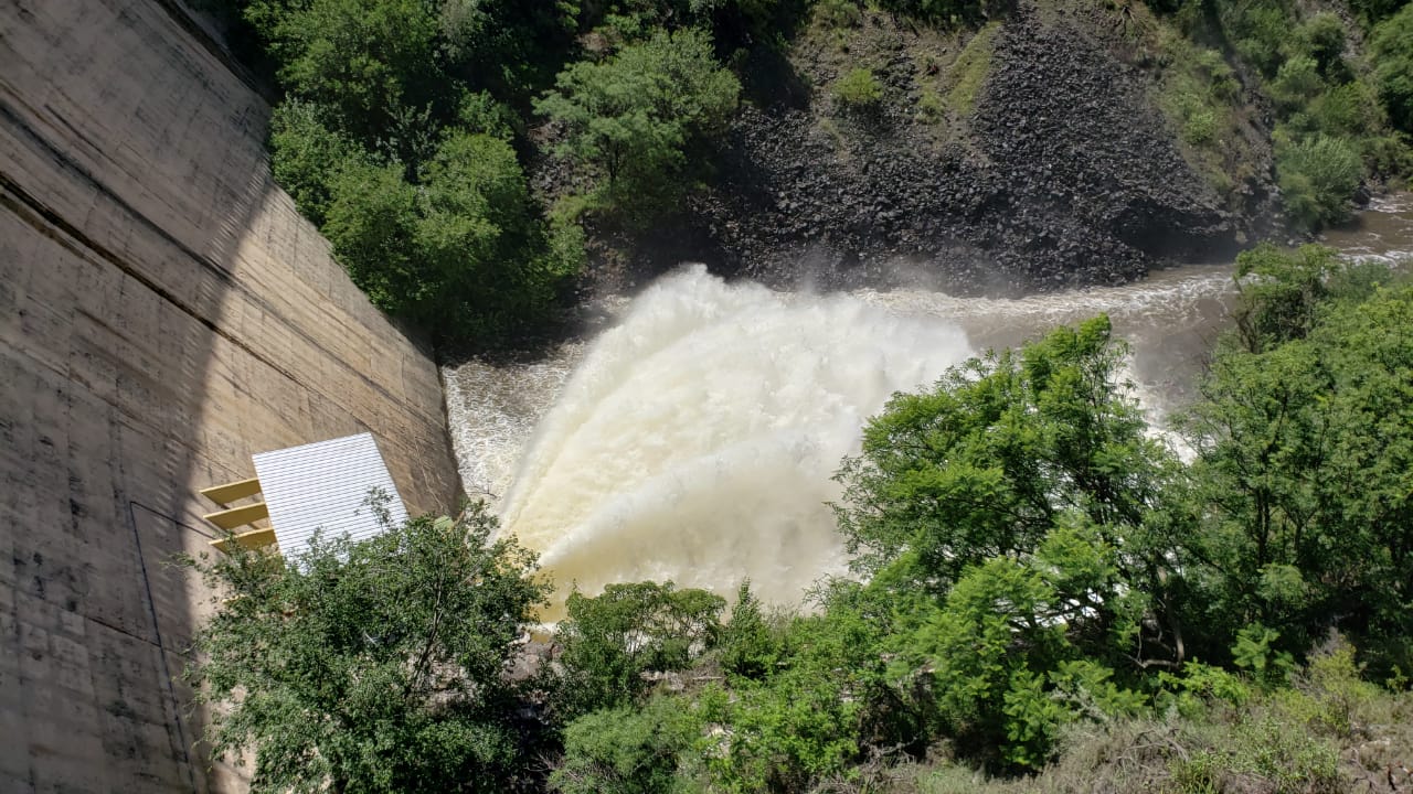
[[[1033,0],[961,34],[873,11],[817,18],[790,73],[747,66],[756,97],[695,201],[687,225],[699,227],[646,256],[780,284],[966,292],[1112,284],[1229,256],[1259,212],[1229,212],[1180,151],[1130,24],[1122,8]],[[876,100],[841,96],[856,69]],[[1251,208],[1269,170],[1267,154],[1243,185]]]

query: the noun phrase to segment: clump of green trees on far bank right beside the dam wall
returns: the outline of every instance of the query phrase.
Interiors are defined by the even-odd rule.
[[[538,216],[514,113],[452,72],[506,57],[507,31],[557,23],[499,0],[254,0],[246,17],[287,92],[276,178],[374,305],[480,345],[552,318],[582,237]],[[523,78],[507,66],[482,82]]]

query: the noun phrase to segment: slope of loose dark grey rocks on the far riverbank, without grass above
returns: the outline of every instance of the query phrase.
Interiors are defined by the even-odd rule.
[[[1178,154],[1143,73],[1081,24],[1022,4],[959,141],[899,107],[868,126],[745,107],[692,208],[712,264],[781,285],[996,294],[1225,256],[1238,220]],[[887,61],[897,105],[916,95],[911,73],[906,54]]]

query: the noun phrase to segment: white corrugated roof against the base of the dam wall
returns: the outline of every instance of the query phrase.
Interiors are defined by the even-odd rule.
[[[285,559],[308,547],[309,535],[345,533],[353,540],[379,534],[383,527],[367,504],[373,489],[386,492],[393,524],[407,520],[407,507],[377,452],[372,434],[331,438],[252,455],[260,492],[270,506],[270,526]]]

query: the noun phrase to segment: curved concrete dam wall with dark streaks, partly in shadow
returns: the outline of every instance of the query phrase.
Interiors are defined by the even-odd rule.
[[[268,109],[175,0],[0,0],[0,791],[230,791],[164,562],[250,455],[377,438],[459,490],[424,345],[270,178]]]

